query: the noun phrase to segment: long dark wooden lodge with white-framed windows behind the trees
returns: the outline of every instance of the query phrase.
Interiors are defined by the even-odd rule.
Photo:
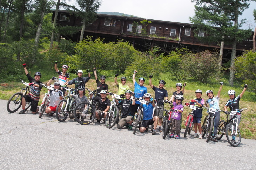
[[[55,11],[53,11],[54,19]],[[140,21],[151,21],[146,27],[146,34],[142,36],[142,24]],[[136,32],[132,30],[132,24],[138,23]],[[59,11],[57,24],[61,26],[82,26],[82,20],[71,14],[68,11]],[[93,38],[105,38],[104,42],[116,42],[118,39],[129,41],[134,48],[140,51],[146,51],[154,46],[160,47],[162,52],[169,53],[176,48],[187,47],[193,52],[200,52],[205,49],[214,50],[220,48],[219,44],[201,43],[194,37],[192,24],[169,22],[160,20],[151,20],[138,17],[116,16],[97,14],[96,21],[86,25],[84,37],[93,36]],[[60,35],[65,39],[79,41],[81,31],[72,37]],[[207,36],[204,31],[199,31],[199,36]],[[237,55],[244,50],[252,49],[252,36],[242,43],[237,44]],[[224,45],[223,58],[230,58],[232,46],[231,44]]]

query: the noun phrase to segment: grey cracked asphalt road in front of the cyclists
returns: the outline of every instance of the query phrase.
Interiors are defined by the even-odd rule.
[[[256,140],[242,139],[232,147],[223,136],[218,143],[188,135],[162,139],[103,123],[80,125],[55,115],[38,118],[8,113],[0,100],[0,169],[256,169]]]

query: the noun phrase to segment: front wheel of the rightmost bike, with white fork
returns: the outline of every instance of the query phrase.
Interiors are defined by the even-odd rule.
[[[229,123],[226,128],[226,137],[228,140],[228,143],[231,144],[231,146],[238,146],[241,142],[241,133],[239,128],[237,127],[237,134],[236,133],[236,123]]]

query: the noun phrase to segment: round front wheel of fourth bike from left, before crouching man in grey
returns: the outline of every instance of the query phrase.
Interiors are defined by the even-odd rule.
[[[89,102],[81,102],[75,107],[74,117],[81,125],[89,125],[95,119],[95,109]]]

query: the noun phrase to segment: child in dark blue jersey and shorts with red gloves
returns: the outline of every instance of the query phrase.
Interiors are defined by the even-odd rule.
[[[189,105],[194,105],[197,108],[202,108],[202,106],[204,105],[204,99],[201,98],[202,96],[202,90],[197,89],[195,91],[196,93],[196,98],[194,98],[193,100],[191,100],[191,102],[188,104],[186,103],[187,106]],[[195,135],[193,137],[198,137],[197,135],[197,125],[198,125],[198,130],[199,130],[199,139],[203,139],[202,138],[202,127],[201,127],[201,118],[202,118],[202,111],[203,109],[196,109],[193,110],[194,116],[193,116],[193,123],[195,126]]]

